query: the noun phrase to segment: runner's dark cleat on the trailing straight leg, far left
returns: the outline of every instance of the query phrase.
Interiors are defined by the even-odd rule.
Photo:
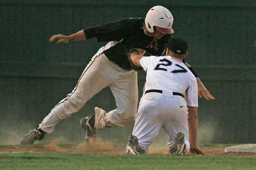
[[[30,130],[25,136],[20,139],[21,145],[31,145],[34,144],[36,140],[42,140],[44,138],[45,132],[39,132],[36,129]]]

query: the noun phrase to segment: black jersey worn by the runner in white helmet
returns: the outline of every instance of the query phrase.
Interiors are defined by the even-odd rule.
[[[168,43],[170,35],[164,35],[160,40],[149,37],[144,33],[143,18],[121,19],[117,22],[90,27],[84,29],[86,38],[96,37],[98,42],[102,41],[119,41],[104,54],[119,65],[122,69],[132,69],[128,61],[128,53],[132,48],[141,48],[147,50],[151,55],[161,56]]]

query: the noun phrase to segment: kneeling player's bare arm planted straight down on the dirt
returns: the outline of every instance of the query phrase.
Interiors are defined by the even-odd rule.
[[[190,152],[192,153],[201,153],[204,155],[201,148],[197,145],[197,130],[198,130],[198,116],[197,116],[197,107],[188,106],[189,112],[189,144]]]

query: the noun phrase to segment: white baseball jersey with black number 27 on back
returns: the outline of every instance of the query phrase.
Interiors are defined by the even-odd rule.
[[[147,72],[145,91],[159,89],[163,95],[181,93],[186,96],[187,106],[198,107],[196,78],[184,63],[170,56],[142,57],[140,63]]]

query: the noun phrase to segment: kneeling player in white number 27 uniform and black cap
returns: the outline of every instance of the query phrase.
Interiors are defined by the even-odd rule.
[[[166,56],[161,57],[131,54],[133,63],[141,66],[147,77],[133,133],[128,139],[128,153],[147,153],[160,128],[168,134],[171,155],[185,154],[190,149],[188,118],[197,116],[197,82],[182,63],[188,54],[187,42],[181,38],[169,38],[167,47]],[[197,131],[197,123],[189,123]],[[195,144],[193,148],[200,150],[196,145],[196,132],[190,134],[190,143]]]

